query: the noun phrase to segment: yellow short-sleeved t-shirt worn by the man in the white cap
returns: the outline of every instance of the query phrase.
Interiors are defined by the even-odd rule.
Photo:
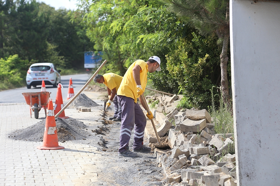
[[[137,103],[137,85],[133,78],[133,67],[138,64],[141,67],[140,70],[140,82],[142,90],[145,91],[146,84],[147,84],[147,73],[148,73],[148,64],[143,60],[137,60],[133,64],[129,66],[126,73],[124,74],[123,81],[119,86],[119,90],[117,95],[124,95],[129,98],[133,98],[134,102]]]

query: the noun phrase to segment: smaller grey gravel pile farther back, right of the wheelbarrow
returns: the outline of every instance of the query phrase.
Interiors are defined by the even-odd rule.
[[[69,102],[70,100],[67,100],[65,102],[65,105]],[[87,97],[85,94],[80,94],[77,96],[75,100],[72,101],[71,104],[67,108],[76,108],[76,107],[96,107],[99,106],[99,104],[95,103],[93,100],[91,100],[89,97]]]

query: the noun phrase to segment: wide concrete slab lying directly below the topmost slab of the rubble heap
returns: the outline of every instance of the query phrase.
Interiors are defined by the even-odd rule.
[[[181,132],[200,132],[202,129],[206,126],[206,119],[194,121],[190,119],[184,120],[180,124],[180,130]]]

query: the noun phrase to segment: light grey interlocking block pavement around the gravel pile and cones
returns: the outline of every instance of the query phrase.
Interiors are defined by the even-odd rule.
[[[76,109],[66,109],[65,115],[91,123],[100,113],[78,113]],[[41,146],[42,142],[13,140],[8,137],[12,131],[40,122],[40,118],[45,119],[44,110],[39,112],[39,119],[34,118],[33,112],[30,118],[26,103],[0,105],[0,186],[106,185],[98,179],[103,157],[97,144],[91,146],[67,141],[59,142],[65,149],[39,150],[36,147]]]

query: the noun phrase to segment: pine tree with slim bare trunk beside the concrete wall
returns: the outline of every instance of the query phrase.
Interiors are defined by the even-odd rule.
[[[228,87],[229,0],[164,0],[169,10],[192,24],[201,34],[216,34],[222,39],[220,54],[221,90],[224,103],[231,104]]]

